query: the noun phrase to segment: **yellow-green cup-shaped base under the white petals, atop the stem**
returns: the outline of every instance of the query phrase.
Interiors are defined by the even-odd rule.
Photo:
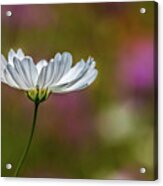
[[[45,101],[50,94],[50,91],[48,89],[32,89],[26,92],[28,98],[35,103],[40,103],[42,101]]]

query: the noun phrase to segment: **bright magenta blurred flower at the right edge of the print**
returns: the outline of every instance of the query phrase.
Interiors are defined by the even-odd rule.
[[[135,39],[122,46],[118,58],[118,81],[127,90],[149,89],[154,83],[154,43]]]

